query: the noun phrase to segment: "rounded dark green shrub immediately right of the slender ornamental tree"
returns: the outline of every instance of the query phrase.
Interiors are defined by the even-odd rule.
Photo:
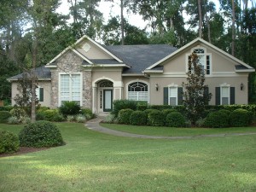
[[[220,127],[229,127],[230,118],[228,112],[225,111],[215,111],[208,113],[207,118],[205,119],[204,126],[220,128]]]

